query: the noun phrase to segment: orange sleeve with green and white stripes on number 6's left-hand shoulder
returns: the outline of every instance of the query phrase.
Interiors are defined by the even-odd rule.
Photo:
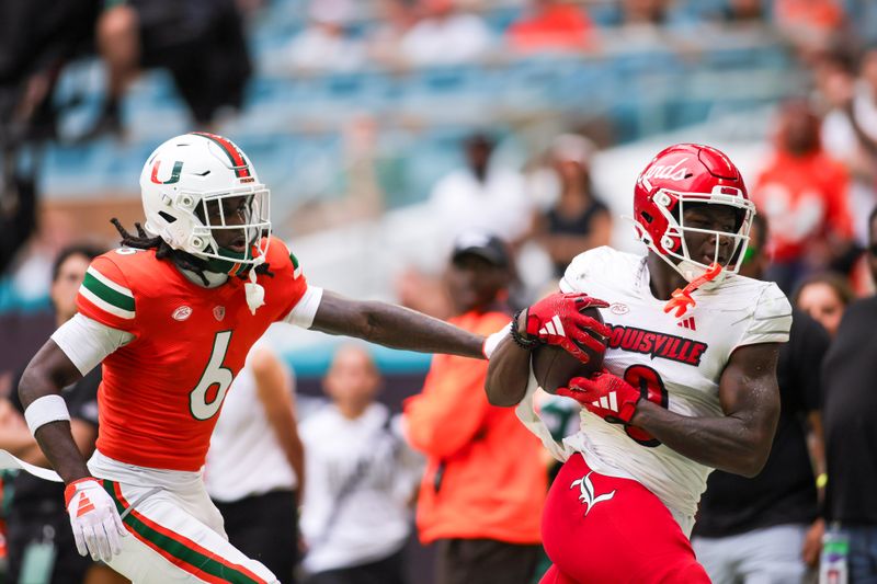
[[[135,294],[121,267],[106,254],[95,257],[76,297],[79,312],[113,329],[136,332]]]

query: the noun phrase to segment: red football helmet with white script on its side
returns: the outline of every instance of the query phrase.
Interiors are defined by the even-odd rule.
[[[685,227],[685,205],[727,205],[737,210],[736,232]],[[725,153],[699,144],[677,144],[661,150],[639,174],[634,187],[634,225],[648,248],[691,282],[709,267],[691,257],[685,232],[713,233],[732,240],[732,252],[715,286],[728,273],[736,274],[749,244],[755,205],[743,178]],[[719,247],[716,245],[718,260]],[[675,261],[674,261],[675,260]]]

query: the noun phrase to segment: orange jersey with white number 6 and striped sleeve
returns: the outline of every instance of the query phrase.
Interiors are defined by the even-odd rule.
[[[134,340],[103,360],[98,449],[116,460],[169,470],[204,465],[231,380],[272,322],[307,283],[286,245],[272,238],[260,275],[265,305],[253,316],[244,280],[193,284],[155,250],[122,248],[95,257],[77,296],[82,314]]]

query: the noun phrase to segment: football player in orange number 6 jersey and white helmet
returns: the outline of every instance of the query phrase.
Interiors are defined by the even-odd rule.
[[[276,582],[228,543],[201,479],[225,393],[269,324],[474,358],[483,339],[309,285],[271,237],[267,188],[226,138],[164,142],[140,187],[144,228],[134,236],[116,221],[124,247],[92,262],[79,314],[24,373],[27,424],[67,483],[80,553],[135,582]],[[565,317],[570,331],[578,318]],[[101,430],[86,462],[59,392],[99,364]]]

